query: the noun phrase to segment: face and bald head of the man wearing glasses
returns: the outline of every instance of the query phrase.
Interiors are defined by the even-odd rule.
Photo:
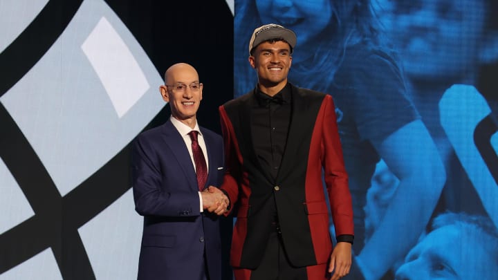
[[[169,102],[173,118],[193,128],[202,100],[202,88],[194,67],[175,64],[166,71],[165,85],[160,86],[159,91],[163,100]]]

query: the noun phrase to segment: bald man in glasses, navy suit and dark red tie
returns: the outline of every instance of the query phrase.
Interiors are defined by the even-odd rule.
[[[221,279],[223,142],[196,120],[202,90],[194,67],[169,67],[159,91],[171,117],[133,141],[133,198],[144,216],[140,280]]]

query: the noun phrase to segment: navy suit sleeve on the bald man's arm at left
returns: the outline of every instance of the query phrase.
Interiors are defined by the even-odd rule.
[[[153,142],[145,137],[133,141],[132,181],[135,209],[142,216],[199,216],[199,194],[189,189],[185,177],[169,170]],[[174,160],[169,160],[172,165]],[[165,175],[169,172],[169,176]],[[177,174],[172,174],[177,173]],[[165,178],[168,178],[167,181]]]

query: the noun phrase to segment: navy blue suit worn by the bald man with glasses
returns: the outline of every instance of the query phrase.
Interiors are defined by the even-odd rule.
[[[203,129],[208,149],[205,187],[223,182],[221,136]],[[205,151],[204,151],[205,153]],[[138,279],[221,279],[219,219],[200,212],[199,188],[182,136],[168,120],[137,136],[132,153],[133,198],[144,216]]]

